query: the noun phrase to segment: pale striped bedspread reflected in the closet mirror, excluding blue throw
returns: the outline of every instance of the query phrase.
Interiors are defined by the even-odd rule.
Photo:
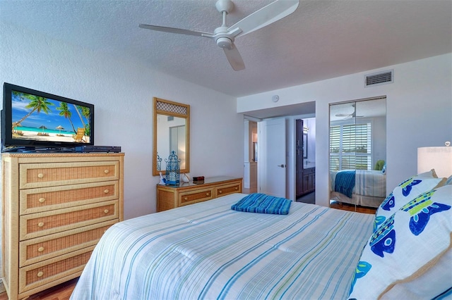
[[[331,172],[331,192],[338,172]],[[378,170],[356,170],[353,194],[386,198],[386,175]]]

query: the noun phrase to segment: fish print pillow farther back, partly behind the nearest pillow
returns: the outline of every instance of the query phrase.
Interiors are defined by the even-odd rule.
[[[374,231],[401,206],[415,199],[417,195],[423,192],[443,186],[445,182],[446,178],[437,178],[434,170],[431,170],[427,173],[412,176],[400,183],[381,202],[377,209],[374,220]]]

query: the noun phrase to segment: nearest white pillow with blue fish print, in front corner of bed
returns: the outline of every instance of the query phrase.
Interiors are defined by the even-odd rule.
[[[452,185],[416,196],[373,232],[349,299],[434,299],[452,287]]]

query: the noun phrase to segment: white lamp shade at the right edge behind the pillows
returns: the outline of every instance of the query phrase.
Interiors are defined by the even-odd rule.
[[[452,147],[417,148],[417,173],[434,169],[438,177],[452,175]]]

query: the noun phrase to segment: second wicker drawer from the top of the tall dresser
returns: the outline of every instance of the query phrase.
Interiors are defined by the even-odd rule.
[[[119,181],[94,182],[20,191],[20,214],[119,199]]]

